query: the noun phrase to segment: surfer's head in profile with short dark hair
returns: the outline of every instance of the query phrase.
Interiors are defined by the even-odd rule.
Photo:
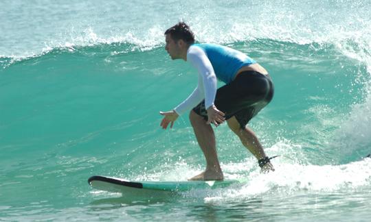
[[[177,23],[165,32],[166,46],[165,49],[173,60],[183,58],[186,60],[188,47],[194,43],[194,34],[190,27],[183,22]]]

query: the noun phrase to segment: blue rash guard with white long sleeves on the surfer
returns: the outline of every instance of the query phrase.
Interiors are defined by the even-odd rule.
[[[187,51],[189,61],[199,74],[193,93],[174,110],[181,115],[205,99],[205,108],[214,105],[216,79],[229,84],[243,66],[256,62],[240,51],[215,44],[193,44]]]

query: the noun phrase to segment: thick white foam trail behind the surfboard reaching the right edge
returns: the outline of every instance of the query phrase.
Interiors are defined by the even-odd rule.
[[[249,199],[269,192],[291,193],[300,190],[309,193],[333,193],[346,188],[370,186],[371,159],[337,166],[282,163],[276,165],[276,171],[272,173],[261,174],[254,171],[247,178],[247,184],[239,188],[207,193],[204,196],[205,201]]]

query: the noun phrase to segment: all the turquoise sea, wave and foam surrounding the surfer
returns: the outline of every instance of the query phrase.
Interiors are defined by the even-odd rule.
[[[1,1],[0,220],[369,221],[371,1]],[[273,101],[250,127],[276,171],[227,125],[225,177],[243,186],[138,199],[92,190],[91,175],[186,180],[205,162],[188,116],[159,111],[196,86],[164,30],[244,51]]]

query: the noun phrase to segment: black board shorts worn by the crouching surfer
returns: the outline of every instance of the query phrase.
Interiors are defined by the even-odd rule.
[[[229,84],[216,90],[214,105],[225,113],[225,119],[236,116],[241,128],[272,100],[274,86],[269,75],[256,71],[243,71]],[[205,100],[193,108],[207,121]]]

